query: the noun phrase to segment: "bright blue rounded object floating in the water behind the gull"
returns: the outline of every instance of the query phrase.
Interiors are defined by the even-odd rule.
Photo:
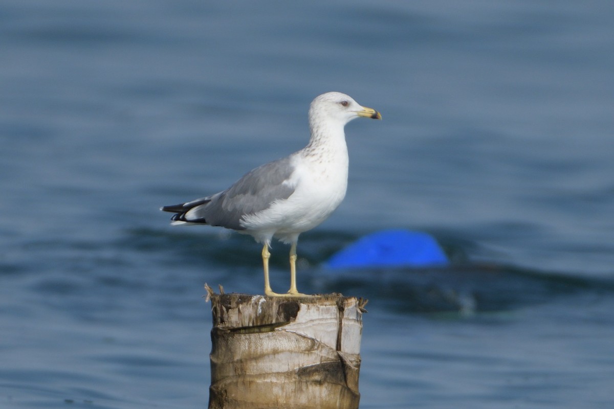
[[[327,267],[447,266],[448,257],[430,234],[409,230],[384,230],[365,235],[328,259]]]

